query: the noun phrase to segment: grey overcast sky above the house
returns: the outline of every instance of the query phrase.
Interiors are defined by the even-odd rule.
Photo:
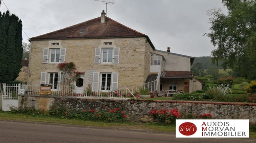
[[[106,4],[94,0],[2,0],[23,22],[29,38],[65,28],[100,16]],[[107,16],[148,35],[159,50],[189,56],[209,56],[214,49],[207,11],[220,8],[222,0],[103,0]],[[1,12],[7,9],[2,3]],[[40,28],[39,28],[40,27]],[[28,43],[23,33],[23,42]]]

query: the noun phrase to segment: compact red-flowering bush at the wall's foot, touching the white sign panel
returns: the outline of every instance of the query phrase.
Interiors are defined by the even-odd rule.
[[[177,109],[172,109],[170,111],[167,109],[161,109],[159,111],[153,109],[151,111],[151,115],[153,115],[156,119],[160,120],[165,125],[174,124],[175,120],[181,116]]]

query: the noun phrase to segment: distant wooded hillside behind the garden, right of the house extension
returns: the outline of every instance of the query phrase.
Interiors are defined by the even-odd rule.
[[[223,67],[221,66],[222,62],[219,62],[218,66],[215,64],[212,63],[212,57],[210,56],[207,56],[207,57],[196,57],[193,64],[195,63],[202,63],[203,65],[203,69],[208,69],[210,66],[211,67],[215,67],[217,69],[223,69]],[[192,65],[193,66],[193,65]]]

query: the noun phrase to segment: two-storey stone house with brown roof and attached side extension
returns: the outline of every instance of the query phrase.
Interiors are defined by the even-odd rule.
[[[141,85],[159,69],[158,89],[183,90],[188,84],[189,92],[193,91],[190,65],[194,57],[156,50],[147,35],[105,15],[102,11],[98,18],[30,38],[28,82],[52,84],[52,90],[59,90],[57,65],[65,61],[74,62],[82,73],[74,81],[77,92],[88,86],[93,91],[114,91]],[[173,71],[186,72],[188,77],[169,76]]]

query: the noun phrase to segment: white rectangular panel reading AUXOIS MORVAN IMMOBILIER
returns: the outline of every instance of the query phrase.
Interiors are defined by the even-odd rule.
[[[176,120],[176,138],[249,138],[249,120]]]

